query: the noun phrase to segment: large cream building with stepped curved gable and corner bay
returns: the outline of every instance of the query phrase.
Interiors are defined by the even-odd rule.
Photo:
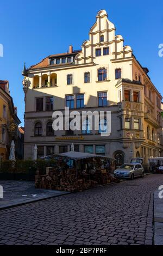
[[[162,154],[162,96],[115,31],[101,10],[81,50],[70,46],[67,53],[24,67],[25,159],[32,158],[35,144],[38,157],[70,150],[74,143],[75,150],[115,157],[118,164]],[[65,106],[80,113],[111,111],[110,136],[90,131],[89,119],[80,131],[53,131],[52,114],[64,113]]]

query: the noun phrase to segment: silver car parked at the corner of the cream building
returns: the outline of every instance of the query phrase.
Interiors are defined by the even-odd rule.
[[[144,176],[144,168],[140,163],[124,163],[114,171],[115,178],[134,179],[135,177]]]

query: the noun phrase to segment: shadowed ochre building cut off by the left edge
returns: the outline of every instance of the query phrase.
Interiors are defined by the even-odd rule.
[[[9,92],[9,82],[0,80],[0,160],[9,159],[12,139],[18,141],[17,108]],[[16,157],[17,158],[17,157]]]

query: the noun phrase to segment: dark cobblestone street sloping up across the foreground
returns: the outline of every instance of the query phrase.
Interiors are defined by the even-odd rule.
[[[153,192],[163,175],[0,211],[2,245],[152,245]]]

